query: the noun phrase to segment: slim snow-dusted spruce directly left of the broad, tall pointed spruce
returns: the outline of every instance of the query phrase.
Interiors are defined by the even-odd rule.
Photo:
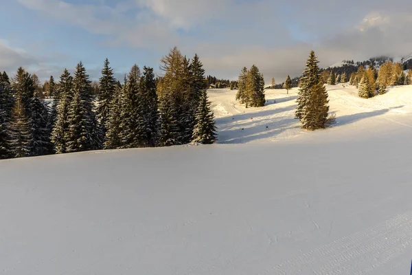
[[[56,153],[66,153],[67,142],[69,141],[69,107],[73,99],[73,78],[69,71],[65,71],[60,76],[60,82],[56,89],[58,94],[58,104],[56,107],[56,122],[52,129],[52,143]]]

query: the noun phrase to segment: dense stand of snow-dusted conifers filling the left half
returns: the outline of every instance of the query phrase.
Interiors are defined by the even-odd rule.
[[[39,93],[35,75],[20,67],[0,74],[0,158],[100,149],[216,142],[207,78],[197,54],[174,47],[161,59],[163,76],[133,65],[123,83],[108,59],[95,91],[80,62]],[[37,78],[38,79],[38,78]],[[41,95],[52,96],[50,104]]]

